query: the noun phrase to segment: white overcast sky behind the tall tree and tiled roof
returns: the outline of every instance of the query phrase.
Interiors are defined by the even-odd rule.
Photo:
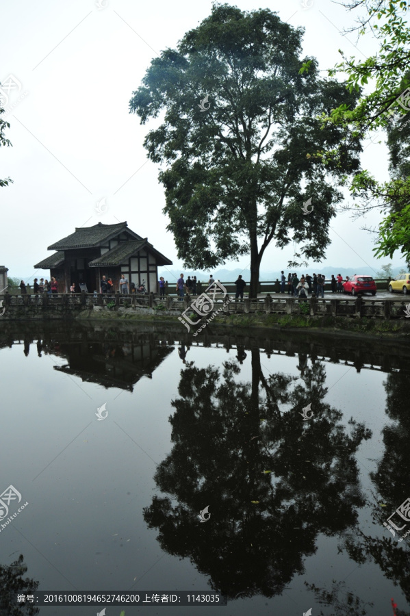
[[[151,59],[166,47],[175,48],[186,31],[196,27],[212,8],[210,0],[22,0],[3,3],[0,38],[0,80],[13,75],[21,90],[10,93],[7,116],[12,148],[0,148],[0,177],[14,183],[0,190],[0,264],[10,276],[28,279],[33,265],[51,254],[47,246],[75,227],[127,220],[155,248],[181,266],[172,234],[162,213],[164,190],[157,166],[142,146],[149,124],[129,114],[128,103]],[[241,10],[269,8],[283,21],[305,27],[304,55],[318,58],[320,68],[339,62],[338,49],[363,57],[374,51],[371,37],[355,47],[355,34],[342,36],[353,24],[331,0],[238,0]],[[363,54],[363,55],[361,55]],[[325,74],[325,73],[324,73]],[[27,94],[25,94],[27,93]],[[198,92],[199,97],[203,92]],[[192,101],[195,105],[198,101]],[[374,136],[372,137],[374,139]],[[363,166],[387,179],[387,150],[365,143]],[[97,214],[97,203],[103,214]],[[375,270],[372,239],[363,224],[374,226],[381,216],[353,222],[347,213],[333,219],[332,244],[324,266]],[[337,235],[338,234],[338,235]],[[339,237],[340,236],[340,237]],[[342,238],[342,239],[341,239]],[[292,248],[266,251],[261,270],[285,268]],[[248,266],[249,259],[225,267]],[[399,265],[400,259],[394,259]],[[45,272],[40,272],[44,275]]]

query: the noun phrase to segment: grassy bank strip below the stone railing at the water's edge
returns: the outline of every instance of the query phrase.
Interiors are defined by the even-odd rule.
[[[164,314],[147,314],[129,311],[84,311],[76,316],[76,320],[110,320],[110,321],[149,321],[149,322],[178,322],[178,316]],[[203,321],[205,322],[205,320]],[[410,323],[405,319],[381,320],[369,318],[349,318],[324,316],[302,316],[290,314],[231,314],[218,315],[207,327],[221,325],[233,329],[242,328],[268,328],[289,330],[310,330],[330,332],[352,332],[377,335],[379,337],[410,337]],[[195,333],[201,323],[190,333]],[[183,331],[187,331],[183,327]]]

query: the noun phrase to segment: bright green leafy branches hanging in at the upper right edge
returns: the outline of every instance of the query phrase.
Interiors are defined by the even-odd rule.
[[[359,198],[357,214],[382,209],[387,214],[376,236],[376,257],[402,253],[410,266],[410,28],[404,0],[353,0],[344,6],[357,12],[359,38],[372,34],[379,42],[366,60],[346,57],[331,70],[347,75],[350,91],[368,84],[355,107],[339,105],[331,114],[336,125],[352,127],[361,136],[387,133],[389,181],[379,182],[371,172],[359,172],[350,187]]]

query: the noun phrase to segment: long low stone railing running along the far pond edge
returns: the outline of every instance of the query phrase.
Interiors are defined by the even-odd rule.
[[[227,299],[229,298],[229,303]],[[410,299],[410,298],[409,298]],[[194,297],[182,299],[175,296],[124,295],[113,294],[42,294],[42,295],[0,295],[0,322],[7,318],[64,318],[83,310],[139,312],[149,314],[167,314],[180,316],[186,311],[192,318],[198,319],[191,308]],[[222,307],[222,303],[227,305]],[[409,306],[409,308],[407,308]],[[300,316],[331,316],[351,318],[406,319],[410,316],[410,303],[402,298],[392,296],[378,300],[357,296],[325,296],[324,299],[311,297],[300,299],[291,296],[235,300],[233,296],[220,298],[216,296],[212,311],[222,307],[220,314],[233,313],[277,313]],[[206,316],[209,316],[210,311]],[[408,312],[407,312],[408,311]]]

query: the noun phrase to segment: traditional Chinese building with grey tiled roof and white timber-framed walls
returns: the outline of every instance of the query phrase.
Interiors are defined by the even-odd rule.
[[[147,238],[131,231],[127,222],[79,227],[47,250],[57,252],[34,267],[50,270],[60,293],[67,293],[72,283],[76,292],[80,284],[86,284],[88,292],[99,292],[103,276],[110,277],[118,291],[121,274],[136,286],[145,281],[148,292],[157,293],[158,267],[172,265]]]

